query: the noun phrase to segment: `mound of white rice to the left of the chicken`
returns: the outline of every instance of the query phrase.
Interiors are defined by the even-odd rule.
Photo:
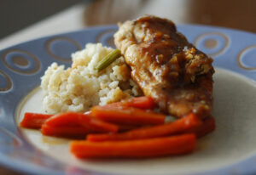
[[[67,70],[64,65],[50,65],[41,78],[44,110],[47,113],[84,112],[97,104],[142,95],[123,57],[103,71],[94,69],[111,51],[113,48],[103,47],[101,43],[88,43],[83,50],[72,54],[73,64]]]

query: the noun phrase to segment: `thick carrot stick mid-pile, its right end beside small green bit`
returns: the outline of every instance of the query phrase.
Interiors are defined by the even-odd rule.
[[[166,116],[153,111],[123,106],[95,106],[91,109],[92,116],[102,121],[125,125],[159,125],[165,122]]]

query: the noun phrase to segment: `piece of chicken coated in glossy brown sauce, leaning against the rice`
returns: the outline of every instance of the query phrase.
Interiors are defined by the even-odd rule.
[[[176,31],[170,20],[144,16],[119,25],[117,48],[131,66],[131,76],[160,110],[201,118],[212,110],[212,59]]]

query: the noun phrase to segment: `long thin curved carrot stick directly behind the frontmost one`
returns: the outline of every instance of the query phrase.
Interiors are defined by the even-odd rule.
[[[191,113],[177,121],[166,123],[154,127],[142,127],[131,130],[126,133],[114,134],[88,134],[87,140],[92,142],[101,142],[106,140],[134,140],[143,138],[157,138],[176,133],[183,133],[189,129],[201,126],[201,119]]]

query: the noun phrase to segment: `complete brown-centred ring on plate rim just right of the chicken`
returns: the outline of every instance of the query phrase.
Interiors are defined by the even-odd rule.
[[[216,31],[203,33],[195,39],[195,47],[203,50],[209,56],[216,56],[224,53],[230,44],[229,38],[224,34]]]

